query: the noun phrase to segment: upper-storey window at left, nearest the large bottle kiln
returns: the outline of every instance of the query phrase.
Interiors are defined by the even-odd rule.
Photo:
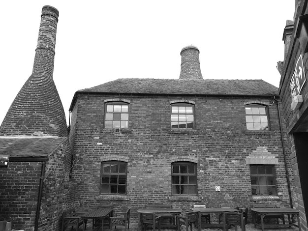
[[[128,127],[128,104],[112,103],[106,105],[105,128]]]

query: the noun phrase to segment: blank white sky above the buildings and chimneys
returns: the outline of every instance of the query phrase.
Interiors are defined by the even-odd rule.
[[[294,0],[3,0],[0,122],[32,72],[41,10],[59,10],[54,82],[68,123],[74,93],[119,78],[178,79],[181,49],[200,50],[204,79],[278,87]]]

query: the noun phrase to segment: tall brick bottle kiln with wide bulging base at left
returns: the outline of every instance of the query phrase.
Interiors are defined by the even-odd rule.
[[[43,6],[32,74],[0,126],[0,136],[67,136],[65,114],[53,81],[59,11]]]

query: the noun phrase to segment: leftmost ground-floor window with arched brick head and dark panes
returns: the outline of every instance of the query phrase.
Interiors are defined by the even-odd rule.
[[[126,194],[127,163],[105,161],[101,163],[101,194]]]

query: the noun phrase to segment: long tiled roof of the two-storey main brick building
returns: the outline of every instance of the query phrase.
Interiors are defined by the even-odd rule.
[[[118,79],[77,93],[278,95],[278,88],[263,80]]]

